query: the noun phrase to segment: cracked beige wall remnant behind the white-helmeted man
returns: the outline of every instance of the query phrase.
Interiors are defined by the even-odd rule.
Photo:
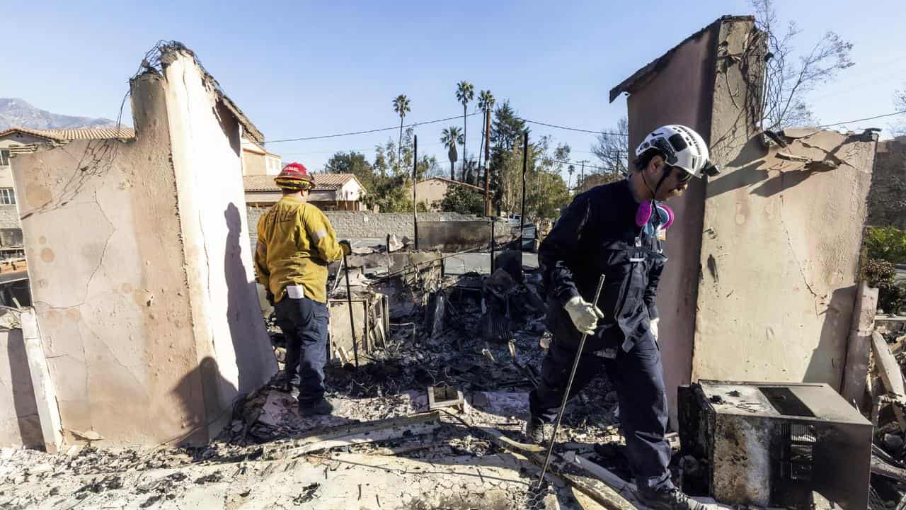
[[[725,16],[612,92],[631,94],[631,148],[683,123],[723,171],[670,201],[658,308],[672,417],[676,387],[698,378],[840,385],[875,142],[799,132],[783,151],[836,168],[779,159],[758,128],[764,44],[753,18]]]

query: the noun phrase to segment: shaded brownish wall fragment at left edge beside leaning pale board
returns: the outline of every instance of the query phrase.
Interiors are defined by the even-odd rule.
[[[22,446],[27,448],[44,448],[41,435],[41,421],[38,417],[38,405],[34,400],[32,372],[28,368],[28,357],[25,355],[25,343],[22,329],[0,331],[6,336],[6,358],[9,360],[10,382],[13,392],[13,407]]]

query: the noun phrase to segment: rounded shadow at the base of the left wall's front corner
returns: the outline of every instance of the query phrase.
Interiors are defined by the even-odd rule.
[[[232,416],[233,406],[220,408],[227,392],[231,397],[236,396],[232,397],[234,403],[243,397],[236,395],[236,387],[220,375],[217,359],[209,356],[202,359],[198,367],[179,379],[177,386],[170,391],[182,405],[186,433],[171,438],[167,443],[204,445],[212,439],[207,436],[208,427]]]

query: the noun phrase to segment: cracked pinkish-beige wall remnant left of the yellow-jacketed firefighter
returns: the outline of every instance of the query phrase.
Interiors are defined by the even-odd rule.
[[[268,347],[241,283],[251,281],[238,248],[245,214],[227,217],[225,203],[242,203],[238,128],[217,121],[211,95],[198,98],[201,80],[182,77],[165,67],[132,80],[135,141],[74,141],[13,162],[63,427],[107,445],[206,441],[237,391],[275,368],[273,357],[238,359]],[[198,193],[193,172],[223,182],[182,203]]]

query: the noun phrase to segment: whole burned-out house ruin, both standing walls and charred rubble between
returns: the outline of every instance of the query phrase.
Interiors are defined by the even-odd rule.
[[[868,393],[875,424],[906,428],[906,389],[872,337],[872,292],[856,290],[876,140],[764,132],[764,51],[751,17],[723,17],[612,91],[630,94],[630,147],[683,123],[723,168],[671,202],[660,348],[673,428],[695,461],[672,474],[727,502],[811,505],[815,493],[863,507],[871,428],[849,406]],[[0,370],[0,389],[31,383],[0,394],[26,412],[0,433],[68,447],[0,451],[11,459],[0,484],[21,495],[0,505],[638,507],[604,379],[565,407],[549,485],[538,483],[545,448],[523,431],[550,338],[542,279],[520,250],[487,253],[491,237],[522,244],[497,221],[419,214],[416,243],[410,214],[329,213],[358,238],[328,281],[334,412],[300,415],[272,378],[280,332],[265,330],[252,283],[246,215],[260,210],[246,210],[239,143],[262,135],[188,49],[155,55],[130,83],[133,140],[14,158],[35,311],[5,345],[43,366]],[[887,393],[865,385],[882,358]],[[844,378],[862,381],[853,397],[834,394]],[[692,381],[678,417],[677,387]],[[33,425],[40,437],[23,434]]]

